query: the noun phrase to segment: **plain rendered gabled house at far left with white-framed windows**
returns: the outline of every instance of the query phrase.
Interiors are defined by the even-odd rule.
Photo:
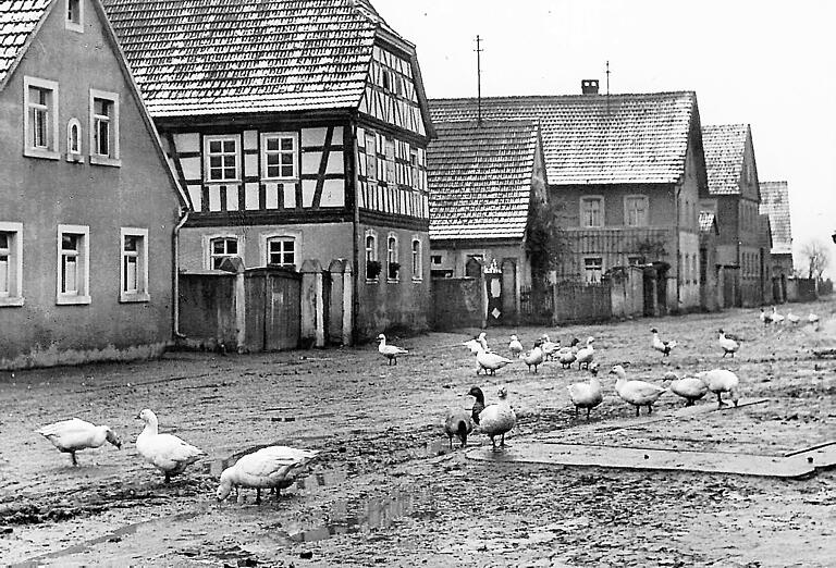
[[[159,355],[185,200],[101,4],[12,2],[0,45],[0,369]]]

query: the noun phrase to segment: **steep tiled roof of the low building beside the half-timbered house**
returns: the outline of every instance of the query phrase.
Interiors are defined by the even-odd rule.
[[[522,238],[537,123],[435,123],[435,133],[427,150],[430,238]]]

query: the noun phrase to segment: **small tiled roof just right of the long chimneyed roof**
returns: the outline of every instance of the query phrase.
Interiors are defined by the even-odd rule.
[[[721,124],[702,127],[702,149],[709,174],[711,195],[740,193],[740,173],[743,169],[747,124]]]

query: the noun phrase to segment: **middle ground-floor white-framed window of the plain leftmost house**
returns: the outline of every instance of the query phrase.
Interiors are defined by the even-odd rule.
[[[58,225],[56,304],[90,302],[90,227]]]

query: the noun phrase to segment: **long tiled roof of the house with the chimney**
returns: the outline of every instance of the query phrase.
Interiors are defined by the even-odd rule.
[[[550,185],[676,183],[685,172],[697,96],[491,97],[485,119],[540,122]],[[433,99],[433,122],[474,120],[476,99]]]

